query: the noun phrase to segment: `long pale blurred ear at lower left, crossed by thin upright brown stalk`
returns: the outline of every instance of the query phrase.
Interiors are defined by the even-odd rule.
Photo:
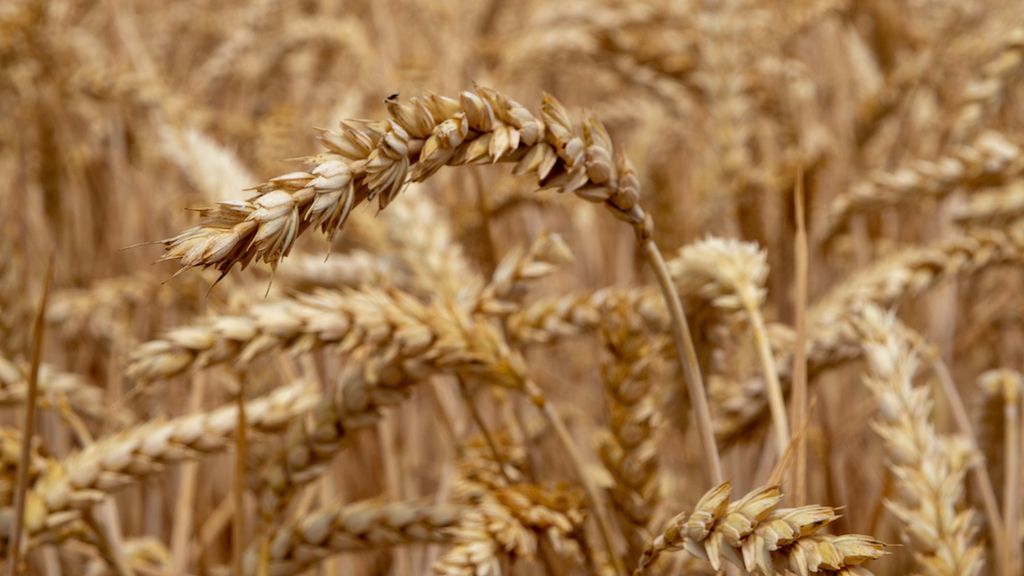
[[[280,431],[315,403],[314,387],[286,386],[247,403],[246,420],[255,431]],[[237,422],[234,405],[150,422],[106,437],[54,463],[29,493],[27,532],[37,536],[57,531],[111,492],[165,464],[230,448]]]

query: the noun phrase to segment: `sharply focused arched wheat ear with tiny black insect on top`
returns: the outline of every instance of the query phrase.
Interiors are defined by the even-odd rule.
[[[202,223],[165,241],[163,259],[224,274],[254,259],[275,265],[307,228],[331,237],[355,206],[377,197],[385,208],[407,181],[422,181],[446,164],[517,162],[517,173],[603,202],[647,237],[632,166],[613,159],[597,120],[573,123],[552,96],[544,96],[540,119],[482,87],[458,100],[430,95],[386,104],[387,121],[343,122],[340,130],[324,132],[327,151],[309,159],[308,171],[272,178],[250,200],[202,210]]]

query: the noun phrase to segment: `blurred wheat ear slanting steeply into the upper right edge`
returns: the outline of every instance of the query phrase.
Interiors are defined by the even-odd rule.
[[[964,88],[959,109],[949,129],[950,143],[966,141],[1002,101],[1013,80],[1024,73],[1024,27],[998,38],[978,77]]]

